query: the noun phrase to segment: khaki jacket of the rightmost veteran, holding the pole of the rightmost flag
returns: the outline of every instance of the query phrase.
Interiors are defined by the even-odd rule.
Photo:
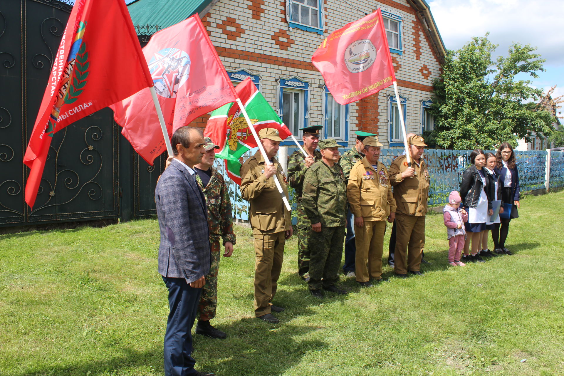
[[[411,163],[417,176],[402,180],[402,172],[407,170],[406,156],[399,156],[391,162],[388,174],[391,185],[394,187],[394,198],[398,208],[396,213],[406,215],[424,216],[427,214],[427,200],[429,198],[429,171],[427,164],[421,159],[417,167]]]

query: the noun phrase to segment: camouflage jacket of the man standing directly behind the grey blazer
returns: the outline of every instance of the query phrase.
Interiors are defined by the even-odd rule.
[[[223,245],[230,241],[236,242],[233,233],[233,216],[231,215],[231,199],[227,193],[227,186],[223,180],[223,176],[219,174],[213,167],[210,167],[211,178],[206,187],[202,183],[202,179],[197,174],[194,175],[196,182],[200,185],[202,192],[206,198],[208,206],[208,227],[210,229],[210,241],[218,242],[219,238],[223,238]]]

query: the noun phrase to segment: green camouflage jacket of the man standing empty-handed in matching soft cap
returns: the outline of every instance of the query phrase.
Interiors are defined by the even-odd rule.
[[[303,178],[302,205],[312,224],[337,227],[346,224],[347,188],[343,169],[338,163],[329,167],[315,162]]]

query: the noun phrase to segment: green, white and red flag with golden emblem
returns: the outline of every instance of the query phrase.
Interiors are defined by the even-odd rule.
[[[274,128],[278,130],[281,139],[292,134],[250,78],[237,85],[235,92],[245,106],[257,132],[265,128]],[[241,185],[239,158],[243,153],[257,147],[257,142],[249,130],[239,105],[236,102],[229,103],[212,112],[204,135],[221,147],[215,156],[225,160],[227,175],[233,182]]]

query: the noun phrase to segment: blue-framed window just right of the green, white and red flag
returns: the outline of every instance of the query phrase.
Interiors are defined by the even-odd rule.
[[[296,138],[300,138],[300,128],[307,127],[309,112],[310,83],[294,76],[278,80],[278,116]],[[284,144],[293,144],[285,141]]]

